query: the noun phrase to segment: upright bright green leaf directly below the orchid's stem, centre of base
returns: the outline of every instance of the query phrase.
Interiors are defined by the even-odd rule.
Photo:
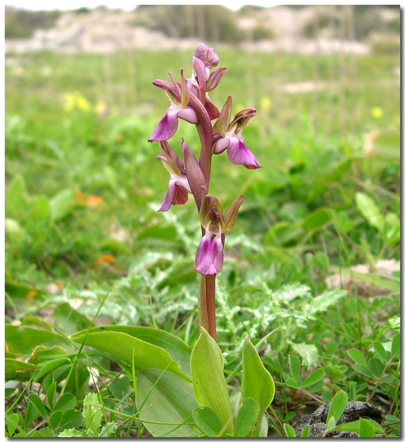
[[[191,351],[190,366],[198,405],[212,408],[225,426],[226,432],[233,434],[232,412],[225,383],[222,353],[218,344],[204,328],[201,328],[201,334]]]

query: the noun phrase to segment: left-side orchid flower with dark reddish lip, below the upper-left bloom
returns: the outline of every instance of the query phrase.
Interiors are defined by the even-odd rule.
[[[159,147],[163,150],[163,154],[160,153],[156,158],[163,163],[165,169],[170,173],[169,190],[158,210],[158,212],[166,212],[172,204],[185,204],[188,199],[188,193],[191,193],[191,188],[188,184],[183,163],[169,146],[169,143],[162,141],[159,143]]]

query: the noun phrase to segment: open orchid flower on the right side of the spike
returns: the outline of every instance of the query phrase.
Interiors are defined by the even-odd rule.
[[[215,144],[214,153],[222,153],[227,149],[228,158],[233,164],[244,165],[247,169],[259,169],[263,167],[248,149],[241,135],[242,129],[248,121],[255,116],[256,109],[248,107],[236,113],[230,122],[232,110],[232,97],[226,100],[221,114],[214,125]]]

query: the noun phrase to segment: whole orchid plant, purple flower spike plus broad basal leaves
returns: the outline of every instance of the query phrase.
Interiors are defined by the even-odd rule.
[[[223,213],[218,198],[209,193],[212,156],[226,150],[234,164],[247,169],[262,167],[241,135],[256,109],[242,109],[231,118],[230,96],[221,112],[208,97],[226,71],[225,67],[211,71],[218,64],[214,50],[200,44],[195,49],[190,78],[184,78],[180,70],[180,81],[169,73],[171,83],[153,82],[166,92],[170,107],[148,140],[159,143],[157,159],[170,174],[159,211],[185,204],[189,193],[197,206],[202,233],[194,266],[200,274],[198,339],[190,347],[164,330],[119,325],[94,327],[70,337],[132,367],[137,409],[132,419],[138,421],[138,435],[146,427],[153,436],[267,436],[265,412],[275,391],[270,373],[247,337],[239,365],[225,379],[224,360],[216,342],[215,278],[224,262],[225,235],[235,224],[244,196],[239,195]],[[197,129],[198,159],[183,138],[181,160],[168,142],[177,131],[178,118]],[[231,403],[227,383],[240,368],[240,392]]]

